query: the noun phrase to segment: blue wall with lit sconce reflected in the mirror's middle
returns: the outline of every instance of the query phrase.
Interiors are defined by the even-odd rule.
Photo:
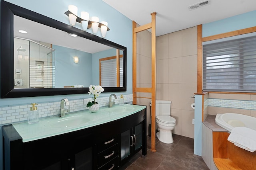
[[[52,45],[55,49],[55,87],[92,84],[92,54],[74,50],[58,45]],[[76,64],[73,57],[77,56]]]

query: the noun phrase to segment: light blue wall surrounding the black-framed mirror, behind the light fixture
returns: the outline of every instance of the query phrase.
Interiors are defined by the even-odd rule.
[[[23,8],[27,8],[44,16],[53,18],[69,24],[68,17],[64,14],[68,10],[68,5],[78,6],[78,15],[81,11],[89,12],[90,16],[98,16],[100,21],[107,21],[110,31],[107,32],[106,39],[127,47],[127,91],[122,94],[132,94],[132,21],[120,12],[102,2],[102,0],[6,0]],[[81,24],[77,23],[75,27],[82,29]],[[88,32],[92,33],[91,29]],[[96,34],[101,37],[100,31]],[[101,96],[109,96],[108,93],[102,93]],[[0,106],[28,104],[32,102],[51,102],[60,101],[62,98],[70,100],[88,98],[86,94],[63,95],[63,96],[43,96],[29,98],[0,99]]]

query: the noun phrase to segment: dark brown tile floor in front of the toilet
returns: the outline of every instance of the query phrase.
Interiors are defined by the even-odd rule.
[[[194,155],[194,139],[173,134],[174,143],[165,144],[156,138],[156,152],[150,151],[147,137],[147,157],[134,155],[121,170],[209,170],[201,156]]]

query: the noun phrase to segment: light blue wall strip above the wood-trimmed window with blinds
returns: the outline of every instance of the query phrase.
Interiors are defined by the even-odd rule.
[[[202,37],[256,26],[256,10],[202,25]]]

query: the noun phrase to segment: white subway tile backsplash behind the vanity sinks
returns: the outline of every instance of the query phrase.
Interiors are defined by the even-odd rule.
[[[119,99],[121,94],[116,96],[115,104],[119,104]],[[113,101],[112,97],[112,101]],[[69,100],[70,113],[74,111],[80,111],[88,109],[85,103],[92,101],[92,98]],[[98,97],[96,102],[102,106],[108,106],[109,96]],[[36,101],[35,101],[36,102]],[[132,102],[132,94],[124,95],[124,102]],[[57,116],[60,112],[60,101],[58,102],[44,102],[38,103],[39,117],[50,117]],[[26,105],[12,105],[12,106],[2,106],[0,107],[0,125],[8,125],[15,122],[28,120],[28,111],[30,110],[30,103]],[[65,106],[66,108],[67,106]],[[39,119],[40,121],[40,119]]]

